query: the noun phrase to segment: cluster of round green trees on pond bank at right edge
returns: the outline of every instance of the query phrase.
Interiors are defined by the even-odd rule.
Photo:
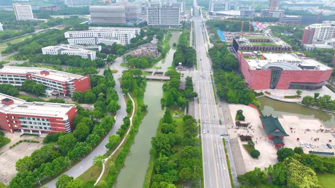
[[[312,96],[305,96],[302,100],[302,104],[307,106],[316,106],[320,109],[335,110],[335,100],[332,100],[330,95],[324,95],[316,98]]]

